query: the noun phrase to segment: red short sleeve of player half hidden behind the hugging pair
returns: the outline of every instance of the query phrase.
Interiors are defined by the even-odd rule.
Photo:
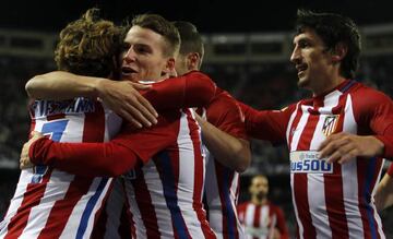
[[[247,140],[245,117],[239,105],[227,92],[217,88],[216,96],[206,107],[210,123],[233,136]]]

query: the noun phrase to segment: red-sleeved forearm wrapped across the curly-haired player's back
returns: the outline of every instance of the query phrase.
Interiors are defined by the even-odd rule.
[[[139,163],[136,155],[116,143],[57,143],[46,138],[28,152],[34,164],[44,164],[81,176],[119,176]]]

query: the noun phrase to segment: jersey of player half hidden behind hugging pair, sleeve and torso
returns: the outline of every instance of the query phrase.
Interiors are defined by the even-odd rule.
[[[247,139],[242,112],[237,101],[217,88],[213,100],[205,107],[206,120],[238,139]],[[206,182],[204,187],[209,223],[217,238],[243,238],[237,216],[239,174],[218,163],[206,150]]]

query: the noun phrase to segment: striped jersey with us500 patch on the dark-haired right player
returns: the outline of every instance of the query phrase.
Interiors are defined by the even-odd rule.
[[[384,238],[371,200],[383,159],[329,164],[319,159],[317,148],[336,132],[376,135],[384,143],[383,157],[392,157],[393,104],[389,96],[347,80],[324,95],[281,111],[243,108],[250,134],[287,142],[298,238]]]

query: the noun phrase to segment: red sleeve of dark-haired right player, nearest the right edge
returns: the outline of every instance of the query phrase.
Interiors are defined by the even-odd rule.
[[[362,127],[360,130],[365,131],[359,134],[373,134],[384,144],[382,157],[393,159],[392,99],[381,92],[366,87],[364,91],[358,91],[358,95],[355,95],[353,100],[355,117]],[[371,132],[367,132],[368,129]]]

